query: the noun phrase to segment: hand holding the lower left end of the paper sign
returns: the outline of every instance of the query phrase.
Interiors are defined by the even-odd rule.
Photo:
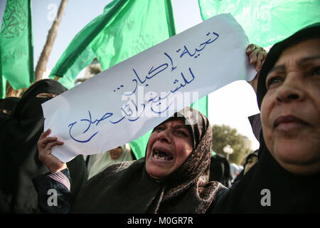
[[[51,149],[55,145],[63,145],[63,142],[59,141],[56,137],[48,137],[50,135],[51,130],[48,129],[40,135],[38,140],[38,152],[39,152],[39,160],[43,162],[50,172],[59,172],[60,170],[64,170],[67,167],[65,162],[61,162],[57,157],[51,154]]]

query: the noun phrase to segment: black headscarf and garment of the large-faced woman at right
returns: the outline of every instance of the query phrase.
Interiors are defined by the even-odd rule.
[[[260,71],[257,101],[261,107],[267,93],[265,80],[285,48],[309,38],[320,38],[314,24],[275,44]],[[309,213],[320,212],[320,174],[299,176],[284,170],[274,160],[260,134],[259,161],[210,207],[213,213]],[[270,197],[270,206],[267,203]],[[265,205],[265,206],[263,206]]]

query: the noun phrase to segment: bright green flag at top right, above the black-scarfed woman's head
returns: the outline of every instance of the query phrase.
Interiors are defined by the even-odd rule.
[[[319,0],[198,0],[198,4],[203,20],[231,13],[250,43],[264,47],[320,21]]]

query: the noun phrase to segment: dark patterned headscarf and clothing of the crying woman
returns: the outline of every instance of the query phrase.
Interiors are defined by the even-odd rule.
[[[191,114],[191,115],[188,115]],[[210,166],[212,133],[208,119],[192,108],[178,116],[191,120],[195,148],[169,176],[154,180],[146,172],[145,157],[107,167],[92,177],[76,199],[75,213],[204,213],[224,187],[203,185],[201,175]],[[198,123],[192,119],[198,116]]]

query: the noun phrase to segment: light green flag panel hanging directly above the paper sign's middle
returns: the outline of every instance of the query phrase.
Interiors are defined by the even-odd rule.
[[[167,38],[166,1],[128,1],[90,46],[105,70]]]

